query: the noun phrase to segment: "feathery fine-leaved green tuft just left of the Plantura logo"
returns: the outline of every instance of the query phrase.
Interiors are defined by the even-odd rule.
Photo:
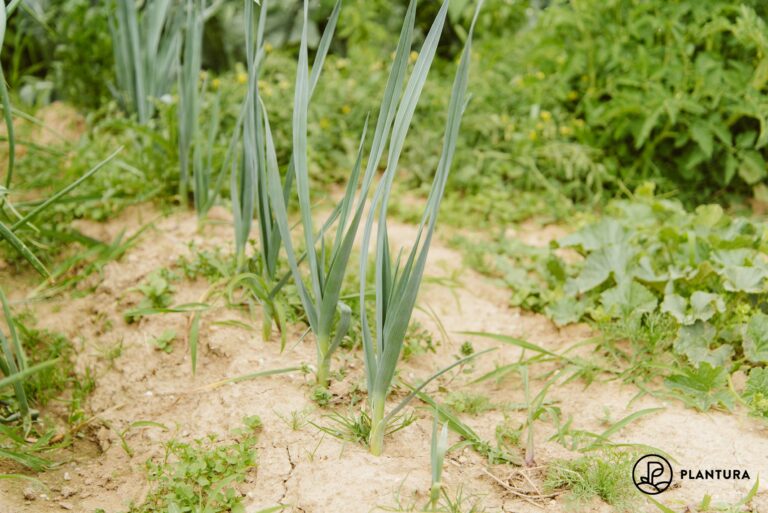
[[[598,498],[618,511],[632,511],[637,493],[632,484],[634,455],[605,451],[574,460],[557,460],[547,470],[549,491],[569,490],[570,499],[585,503]]]

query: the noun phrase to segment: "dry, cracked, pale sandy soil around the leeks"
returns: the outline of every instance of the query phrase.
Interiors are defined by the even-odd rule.
[[[29,484],[0,480],[0,513],[52,512],[71,508],[92,512],[125,511],[131,501],[147,493],[144,462],[162,453],[162,444],[171,438],[189,441],[209,433],[227,437],[241,425],[246,415],[259,415],[264,431],[258,444],[259,465],[240,487],[246,494],[249,512],[277,503],[289,505],[286,511],[306,513],[367,513],[377,507],[403,504],[422,505],[430,486],[429,445],[431,416],[414,404],[419,419],[408,428],[386,440],[385,454],[371,456],[365,448],[323,435],[312,425],[291,430],[283,420],[291,412],[307,411],[309,420],[327,423],[326,410],[318,409],[310,400],[311,382],[300,374],[260,378],[218,388],[205,385],[249,372],[288,367],[299,362],[313,363],[315,349],[310,337],[296,343],[303,328],[297,326],[289,336],[284,352],[277,341],[261,340],[261,330],[252,331],[231,325],[214,325],[213,321],[239,319],[254,327],[258,318],[244,313],[218,309],[203,316],[201,351],[197,375],[190,371],[187,351],[181,343],[171,354],[154,349],[148,340],[166,328],[186,331],[183,314],[149,316],[128,325],[123,313],[138,299],[130,289],[151,271],[171,266],[180,255],[189,252],[187,243],[195,240],[201,248],[229,248],[231,228],[226,215],[214,212],[215,221],[202,232],[193,215],[175,214],[155,217],[151,209],[133,209],[106,225],[82,224],[89,235],[110,240],[121,229],[152,221],[139,243],[120,261],[106,266],[103,280],[93,294],[83,298],[59,297],[30,303],[42,327],[65,333],[78,341],[77,366],[97,369],[97,387],[90,398],[93,420],[84,431],[85,437],[57,455],[63,461],[56,470],[38,476],[49,487],[46,494],[25,498]],[[392,227],[393,238],[408,241],[413,229]],[[543,242],[556,236],[535,226],[521,229],[517,236],[528,242]],[[7,272],[7,271],[6,271]],[[447,288],[440,280],[427,280],[419,304],[430,307],[444,325],[450,340],[443,341],[436,354],[418,355],[403,365],[403,376],[411,381],[428,376],[450,363],[465,340],[477,350],[498,347],[481,356],[471,375],[459,375],[451,390],[482,391],[494,403],[520,403],[524,395],[519,378],[510,377],[500,383],[485,382],[466,385],[497,365],[514,362],[520,349],[488,339],[468,337],[463,331],[485,331],[521,337],[552,351],[560,351],[592,334],[583,325],[557,329],[542,316],[509,308],[508,292],[461,265],[461,256],[442,244],[433,244],[428,276],[457,278],[460,285]],[[12,280],[0,274],[0,280]],[[207,282],[175,284],[176,303],[200,300],[209,287]],[[12,298],[24,300],[23,290],[16,287]],[[441,338],[432,318],[423,311],[415,316]],[[105,321],[112,324],[105,329]],[[122,354],[112,363],[104,357],[105,348],[122,343]],[[337,409],[344,411],[345,398],[356,385],[362,385],[362,361],[359,352],[340,351],[334,368],[348,370],[343,382],[334,385]],[[545,370],[533,369],[538,376]],[[534,392],[541,387],[534,381]],[[435,392],[436,387],[429,388]],[[593,432],[605,429],[605,412],[613,420],[644,408],[664,408],[643,417],[612,437],[614,442],[647,444],[659,447],[678,462],[677,468],[744,468],[753,480],[759,474],[768,476],[768,437],[766,427],[741,413],[702,414],[684,408],[679,402],[650,396],[635,399],[638,389],[607,379],[586,386],[572,382],[555,386],[549,399],[562,409],[564,418],[573,417],[573,427]],[[439,395],[438,395],[439,397]],[[635,400],[633,400],[635,399]],[[513,424],[522,422],[524,412],[509,413]],[[159,429],[135,429],[127,441],[134,450],[130,457],[121,447],[116,432],[134,421],[154,421],[172,426],[169,432]],[[496,425],[503,420],[499,411],[465,422],[487,439],[493,439]],[[551,423],[537,424],[535,460],[539,467],[520,468],[504,465],[488,466],[486,460],[468,448],[449,454],[445,481],[451,490],[462,487],[465,495],[478,498],[489,512],[529,513],[538,511],[608,512],[612,508],[598,501],[574,505],[567,494],[526,499],[541,490],[542,471],[556,458],[578,456],[554,441]],[[452,441],[458,439],[451,435]],[[0,462],[0,473],[21,469]],[[627,476],[627,479],[630,479]],[[698,503],[709,493],[714,502],[735,502],[746,495],[754,481],[677,481],[675,487],[660,498],[675,511],[686,504]],[[542,492],[543,493],[543,492]],[[66,496],[66,497],[65,497]],[[657,511],[644,499],[638,511]],[[693,510],[687,510],[693,511]],[[753,511],[768,511],[768,491],[763,487],[753,501]]]

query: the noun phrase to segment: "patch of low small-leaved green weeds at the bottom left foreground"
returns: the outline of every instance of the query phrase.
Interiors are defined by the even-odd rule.
[[[245,512],[237,484],[256,466],[261,421],[247,417],[243,422],[245,428],[228,443],[213,435],[192,443],[168,442],[162,458],[147,461],[149,494],[129,512]]]

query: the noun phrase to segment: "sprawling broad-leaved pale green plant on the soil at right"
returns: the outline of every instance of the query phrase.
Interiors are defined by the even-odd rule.
[[[691,212],[645,186],[550,248],[501,240],[489,252],[469,249],[468,262],[503,279],[514,305],[559,325],[594,322],[609,342],[632,341],[635,353],[661,357],[671,345],[692,366],[762,365],[766,234],[764,224],[718,205]],[[566,262],[563,248],[580,259]]]

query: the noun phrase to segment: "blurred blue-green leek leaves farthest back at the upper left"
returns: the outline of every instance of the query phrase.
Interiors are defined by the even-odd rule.
[[[154,99],[171,90],[181,49],[183,19],[172,0],[116,0],[109,28],[115,55],[117,88],[123,108],[147,123]],[[141,11],[141,12],[140,12]]]

